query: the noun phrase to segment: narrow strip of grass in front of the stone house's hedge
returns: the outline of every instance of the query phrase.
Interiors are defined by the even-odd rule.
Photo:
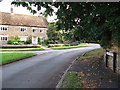
[[[0,48],[1,51],[35,51],[35,50],[44,50],[43,48]]]

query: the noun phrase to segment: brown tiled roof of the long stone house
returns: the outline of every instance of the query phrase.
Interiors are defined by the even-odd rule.
[[[14,26],[47,27],[45,19],[40,16],[31,16],[5,12],[0,12],[0,24]]]

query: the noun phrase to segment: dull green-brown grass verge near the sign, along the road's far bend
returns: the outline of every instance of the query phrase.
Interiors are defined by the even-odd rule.
[[[102,55],[104,54],[104,49],[103,48],[100,48],[100,49],[95,49],[95,50],[92,50],[90,52],[87,52],[84,56],[82,56],[80,58],[80,60],[86,60],[86,59],[89,59],[89,58],[92,58],[92,57],[101,57]]]

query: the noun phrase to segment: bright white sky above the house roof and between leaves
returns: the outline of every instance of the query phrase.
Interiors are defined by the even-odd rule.
[[[2,0],[2,2],[0,2],[0,12],[9,12],[10,13],[11,2],[12,1],[14,1],[14,0]],[[22,7],[22,6],[16,7],[14,5],[12,5],[12,7],[13,7],[13,12],[16,13],[16,14],[33,15],[25,7]],[[44,11],[44,9],[42,9],[42,12],[43,11]],[[37,14],[35,14],[34,16],[38,16],[38,15],[39,15],[39,12]],[[52,21],[54,21],[55,18],[56,18],[56,15],[53,15],[51,17],[48,16],[47,20],[48,20],[48,22],[52,22]]]

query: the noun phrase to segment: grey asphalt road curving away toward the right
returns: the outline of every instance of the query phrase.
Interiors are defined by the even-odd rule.
[[[71,62],[99,45],[44,54],[2,66],[2,88],[55,88]],[[35,53],[39,53],[37,51]]]

